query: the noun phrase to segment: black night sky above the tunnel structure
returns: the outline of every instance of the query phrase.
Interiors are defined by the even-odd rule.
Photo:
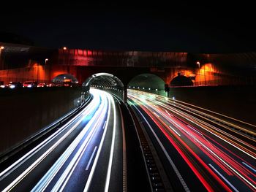
[[[9,1],[0,31],[43,47],[187,52],[256,50],[255,6],[247,1]]]

